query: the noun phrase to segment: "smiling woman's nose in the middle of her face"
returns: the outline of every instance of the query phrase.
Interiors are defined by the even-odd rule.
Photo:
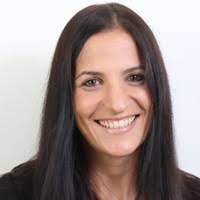
[[[122,113],[127,109],[128,95],[120,84],[113,84],[106,89],[104,105],[115,114]]]

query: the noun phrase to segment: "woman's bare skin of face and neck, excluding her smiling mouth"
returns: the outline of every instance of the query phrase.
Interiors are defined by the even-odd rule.
[[[133,69],[124,73],[128,68]],[[134,75],[144,78],[144,70],[135,42],[120,27],[91,36],[76,60],[75,117],[86,141],[90,179],[102,199],[133,199],[137,190],[138,147],[147,135],[152,100],[145,78]],[[133,114],[140,116],[125,134],[109,133],[94,121]]]

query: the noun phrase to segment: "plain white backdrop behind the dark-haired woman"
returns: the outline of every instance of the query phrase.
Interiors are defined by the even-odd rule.
[[[109,1],[0,0],[0,174],[38,147],[39,122],[58,37],[80,9]],[[144,18],[169,75],[179,166],[200,176],[200,4],[116,1]]]

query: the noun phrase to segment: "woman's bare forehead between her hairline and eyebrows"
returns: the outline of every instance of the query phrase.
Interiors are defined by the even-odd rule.
[[[91,36],[76,59],[76,71],[121,69],[140,64],[136,44],[121,28]]]

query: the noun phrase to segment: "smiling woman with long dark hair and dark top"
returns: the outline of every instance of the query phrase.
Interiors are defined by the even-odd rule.
[[[92,5],[66,25],[39,150],[1,177],[0,199],[200,199],[199,178],[177,165],[159,46],[132,10]]]

